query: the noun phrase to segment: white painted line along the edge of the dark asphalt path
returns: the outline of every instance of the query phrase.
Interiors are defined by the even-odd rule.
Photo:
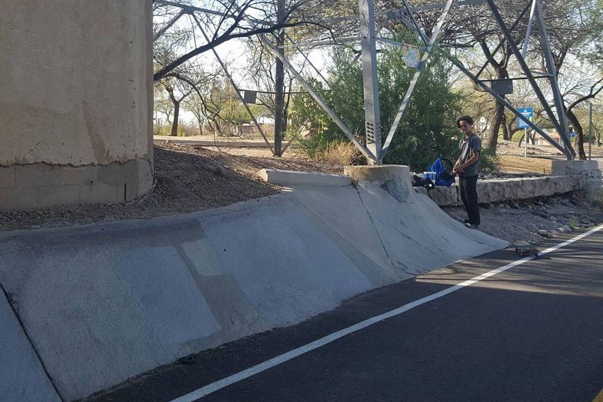
[[[596,227],[592,230],[589,230],[585,233],[579,234],[578,236],[573,237],[572,239],[569,239],[554,247],[547,248],[546,250],[541,251],[540,253],[538,253],[538,256],[552,253],[553,251],[558,250],[561,247],[566,247],[567,245],[569,245],[573,242],[577,242],[578,240],[583,239],[584,237],[589,236],[590,234],[593,234],[602,229],[603,229],[603,225]],[[507,271],[507,269],[513,268],[514,266],[517,266],[517,265],[521,265],[525,262],[533,260],[534,258],[535,258],[534,256],[522,258],[520,260],[509,263],[505,266],[501,266],[500,268],[493,269],[490,272],[486,272],[485,274],[481,274],[470,280],[466,280],[459,284],[455,284],[454,286],[450,286],[447,289],[444,289],[443,291],[440,291],[440,292],[434,293],[432,295],[412,301],[411,303],[405,304],[404,306],[398,307],[397,309],[391,310],[387,313],[383,313],[383,314],[374,316],[372,318],[365,319],[364,321],[358,322],[358,324],[352,325],[351,327],[347,327],[347,328],[344,328],[343,330],[333,332],[332,334],[324,336],[324,338],[317,339],[314,342],[310,342],[309,344],[306,344],[306,345],[298,347],[294,350],[288,351],[287,353],[281,354],[280,356],[273,357],[273,359],[266,360],[263,363],[259,363],[258,365],[255,365],[255,366],[245,369],[243,371],[239,371],[236,374],[230,375],[229,377],[223,378],[214,383],[206,385],[203,388],[199,388],[195,391],[192,391],[190,394],[183,395],[182,397],[176,398],[170,402],[193,402],[193,401],[196,401],[199,398],[203,398],[206,395],[212,394],[212,392],[218,391],[219,389],[225,388],[225,387],[232,385],[236,382],[239,382],[241,380],[245,380],[245,378],[249,378],[252,375],[258,374],[259,372],[265,371],[269,368],[273,368],[274,366],[280,365],[281,363],[285,363],[288,360],[294,359],[297,356],[301,356],[302,354],[308,353],[309,351],[320,348],[321,346],[330,344],[331,342],[336,341],[339,338],[343,338],[344,336],[346,336],[348,334],[351,334],[351,333],[359,331],[363,328],[369,327],[370,325],[376,324],[377,322],[383,321],[384,319],[388,319],[393,316],[400,315],[404,312],[407,312],[408,310],[414,309],[414,307],[421,306],[421,304],[428,303],[429,301],[443,297],[452,292],[456,292],[459,289],[463,289],[463,287],[469,286],[473,283],[479,282],[479,281],[489,278],[493,275],[500,274],[500,272]]]

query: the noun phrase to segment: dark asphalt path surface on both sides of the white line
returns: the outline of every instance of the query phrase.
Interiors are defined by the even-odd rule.
[[[176,400],[518,259],[513,250],[501,250],[383,287],[293,327],[166,366],[93,400]],[[198,401],[592,402],[602,389],[603,230]]]

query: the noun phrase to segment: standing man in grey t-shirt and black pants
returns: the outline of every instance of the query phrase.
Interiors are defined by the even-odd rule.
[[[460,155],[452,168],[452,172],[458,174],[461,199],[469,217],[469,219],[465,219],[465,225],[475,229],[480,224],[477,184],[482,142],[473,133],[473,119],[471,116],[461,116],[456,119],[456,127],[461,129],[464,138],[458,143]]]

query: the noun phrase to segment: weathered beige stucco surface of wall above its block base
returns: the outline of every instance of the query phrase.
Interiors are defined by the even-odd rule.
[[[151,2],[0,1],[0,166],[152,157]]]

